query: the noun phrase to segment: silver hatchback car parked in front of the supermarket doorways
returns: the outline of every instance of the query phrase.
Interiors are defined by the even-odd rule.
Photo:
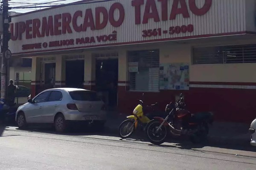
[[[104,102],[96,92],[79,88],[48,89],[21,105],[15,120],[19,128],[31,123],[51,123],[57,132],[64,132],[69,122],[93,122],[104,127]]]

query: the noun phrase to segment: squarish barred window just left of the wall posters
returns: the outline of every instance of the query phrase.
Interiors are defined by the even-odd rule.
[[[138,66],[129,72],[130,91],[159,91],[159,50],[129,51],[128,62]]]

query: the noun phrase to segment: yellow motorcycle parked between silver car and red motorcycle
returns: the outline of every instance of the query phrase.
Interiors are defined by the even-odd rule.
[[[128,138],[131,134],[138,128],[142,129],[143,131],[146,128],[148,122],[151,119],[148,116],[145,116],[144,110],[154,110],[154,106],[158,105],[155,103],[150,106],[146,106],[146,109],[143,109],[143,101],[139,100],[140,104],[136,106],[131,116],[127,116],[127,119],[123,121],[118,128],[119,136],[122,139]]]

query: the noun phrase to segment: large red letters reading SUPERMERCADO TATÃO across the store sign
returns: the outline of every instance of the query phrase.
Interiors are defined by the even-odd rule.
[[[157,10],[156,3],[161,4],[161,13]],[[180,7],[178,7],[179,3]],[[141,11],[141,6],[144,5],[145,10]],[[189,0],[188,5],[193,14],[201,16],[209,11],[212,0],[205,0],[204,6],[200,9],[196,6],[195,0]],[[182,14],[184,18],[190,17],[185,0],[174,0],[171,9],[168,8],[168,0],[132,0],[131,8],[132,7],[134,7],[135,24],[145,24],[148,23],[150,19],[153,19],[154,22],[160,22],[160,20],[175,20],[178,14]],[[169,10],[170,15],[168,15]],[[113,27],[119,27],[125,20],[125,9],[122,3],[113,3],[109,9],[103,6],[96,7],[94,11],[93,14],[92,8],[87,8],[84,11],[76,11],[74,14],[67,12],[42,17],[40,19],[35,18],[11,23],[11,38],[12,40],[22,40],[23,34],[25,34],[24,37],[26,39],[32,39],[71,34],[73,32],[85,32],[87,29],[101,30],[105,28],[108,23]],[[115,11],[118,11],[118,16],[114,15]],[[141,13],[143,13],[143,17],[141,17]],[[78,22],[80,24],[78,24]]]

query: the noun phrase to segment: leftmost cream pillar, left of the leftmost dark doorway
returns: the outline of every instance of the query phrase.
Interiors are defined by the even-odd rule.
[[[41,62],[39,57],[32,57],[31,98],[38,94],[40,88]]]

